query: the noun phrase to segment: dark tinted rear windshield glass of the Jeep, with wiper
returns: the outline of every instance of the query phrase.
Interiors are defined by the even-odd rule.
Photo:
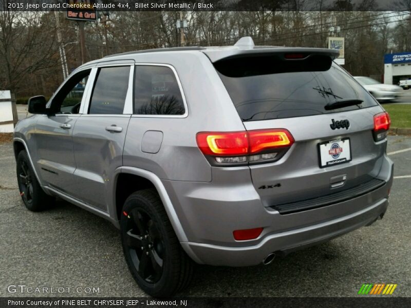
[[[242,121],[304,117],[377,105],[371,95],[328,56],[305,60],[253,56],[214,63]],[[326,110],[340,100],[362,104]]]

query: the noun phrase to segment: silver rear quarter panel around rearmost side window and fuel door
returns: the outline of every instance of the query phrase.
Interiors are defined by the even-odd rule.
[[[198,149],[199,131],[244,130],[227,90],[206,55],[199,51],[142,53],[136,65],[172,66],[188,105],[185,117],[132,115],[124,146],[124,166],[154,172],[159,178],[177,181],[212,181],[212,168]],[[141,150],[146,131],[163,133],[156,153]],[[249,175],[249,172],[248,172]]]

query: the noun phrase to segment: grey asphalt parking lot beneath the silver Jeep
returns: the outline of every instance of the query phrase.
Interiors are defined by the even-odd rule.
[[[397,283],[392,296],[411,296],[411,136],[388,141],[395,180],[383,220],[269,266],[198,266],[192,286],[179,296],[351,297],[363,283]],[[25,209],[10,143],[0,145],[0,247],[1,297],[145,296],[109,222],[63,201],[43,213]],[[8,292],[19,284],[64,292]],[[83,292],[75,292],[78,287]],[[86,293],[87,287],[99,292]]]

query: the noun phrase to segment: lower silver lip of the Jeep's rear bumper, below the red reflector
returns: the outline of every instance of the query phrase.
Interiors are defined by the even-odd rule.
[[[351,202],[366,202],[367,196]],[[341,206],[344,206],[342,203]],[[322,222],[312,226],[271,234],[258,244],[245,247],[225,247],[200,243],[182,243],[188,247],[201,263],[224,266],[257,265],[271,253],[286,255],[308,246],[346,234],[352,230],[372,223],[385,213],[388,200],[382,200],[350,215]]]

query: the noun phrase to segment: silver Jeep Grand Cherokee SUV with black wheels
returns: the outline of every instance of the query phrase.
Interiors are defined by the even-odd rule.
[[[86,63],[16,125],[23,201],[60,197],[115,224],[157,297],[195,263],[268,264],[370,225],[393,181],[390,120],[337,54],[244,37]]]

